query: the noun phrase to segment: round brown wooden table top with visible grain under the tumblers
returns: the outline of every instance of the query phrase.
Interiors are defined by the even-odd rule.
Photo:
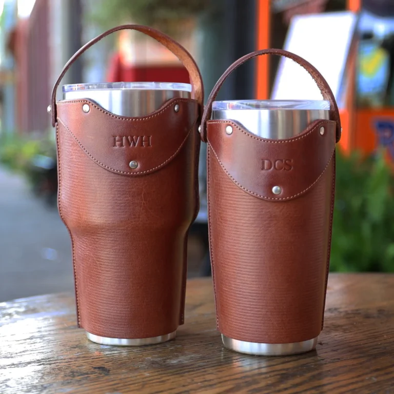
[[[210,279],[188,282],[175,341],[89,342],[73,294],[0,304],[0,393],[394,393],[394,275],[331,274],[316,351],[259,357],[222,346]]]

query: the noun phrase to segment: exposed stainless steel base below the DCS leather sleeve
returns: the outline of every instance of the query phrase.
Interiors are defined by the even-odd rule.
[[[222,334],[223,345],[228,349],[258,356],[288,356],[289,354],[305,353],[316,348],[318,337],[294,343],[256,343],[238,341]]]

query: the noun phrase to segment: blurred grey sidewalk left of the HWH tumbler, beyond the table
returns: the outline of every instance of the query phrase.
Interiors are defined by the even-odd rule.
[[[0,302],[73,286],[69,235],[57,209],[0,167]]]

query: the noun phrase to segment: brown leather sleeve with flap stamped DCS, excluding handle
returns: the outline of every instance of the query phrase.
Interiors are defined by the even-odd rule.
[[[331,243],[336,122],[315,121],[298,136],[265,140],[234,122],[208,121],[207,140],[218,329],[258,343],[317,337]]]

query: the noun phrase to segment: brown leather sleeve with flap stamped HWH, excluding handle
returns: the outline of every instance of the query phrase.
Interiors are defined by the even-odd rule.
[[[90,100],[57,103],[58,208],[72,240],[78,325],[88,332],[148,338],[183,324],[198,118],[191,99],[134,118]]]

